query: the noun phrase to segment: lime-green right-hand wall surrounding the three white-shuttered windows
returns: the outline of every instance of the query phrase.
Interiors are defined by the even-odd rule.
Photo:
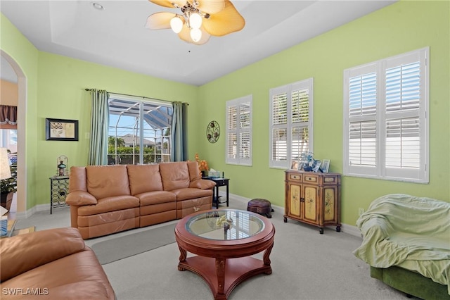
[[[449,2],[400,1],[200,87],[203,115],[221,125],[210,144],[196,140],[200,158],[230,177],[231,193],[284,206],[284,170],[269,168],[269,89],[314,77],[314,156],[342,173],[343,70],[430,46],[430,184],[342,177],[342,223],[383,194],[450,201]],[[253,165],[225,164],[226,101],[253,95]]]

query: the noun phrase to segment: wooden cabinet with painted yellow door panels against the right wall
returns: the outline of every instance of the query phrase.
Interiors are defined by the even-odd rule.
[[[285,214],[319,227],[336,226],[340,232],[340,174],[285,171]]]

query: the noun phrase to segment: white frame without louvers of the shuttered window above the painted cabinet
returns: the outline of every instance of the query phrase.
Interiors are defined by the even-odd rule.
[[[308,151],[313,153],[314,145],[314,78],[308,78],[299,82],[293,82],[281,87],[274,87],[269,90],[269,167],[270,168],[290,168],[293,160],[299,157],[293,157],[293,128],[298,127],[298,123],[292,120],[292,95],[293,92],[307,90],[308,92]],[[285,124],[274,124],[274,96],[286,94],[287,103],[287,122]],[[304,126],[304,125],[303,125]],[[285,130],[286,136],[286,157],[283,159],[274,159],[274,130]]]

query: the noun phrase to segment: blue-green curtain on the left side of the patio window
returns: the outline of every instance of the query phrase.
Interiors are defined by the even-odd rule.
[[[91,92],[91,139],[88,165],[108,165],[108,125],[110,119],[105,90],[89,89]]]

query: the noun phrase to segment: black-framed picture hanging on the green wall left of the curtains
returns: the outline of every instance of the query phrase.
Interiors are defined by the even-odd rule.
[[[47,141],[77,141],[78,120],[45,119]]]

